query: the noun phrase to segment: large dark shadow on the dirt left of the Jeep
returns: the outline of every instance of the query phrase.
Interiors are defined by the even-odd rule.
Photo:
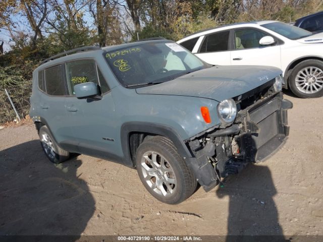
[[[80,235],[95,209],[81,163],[50,163],[37,140],[1,151],[0,235]]]

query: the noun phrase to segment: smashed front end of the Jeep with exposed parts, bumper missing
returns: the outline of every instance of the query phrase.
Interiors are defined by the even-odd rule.
[[[188,164],[204,190],[211,190],[220,177],[238,173],[247,163],[274,155],[289,135],[287,110],[292,107],[278,93],[240,110],[230,127],[188,140],[195,156]]]

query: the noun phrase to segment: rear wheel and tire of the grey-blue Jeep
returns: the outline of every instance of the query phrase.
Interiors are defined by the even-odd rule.
[[[70,157],[70,153],[58,146],[46,126],[39,129],[39,140],[45,155],[52,163],[62,163]]]

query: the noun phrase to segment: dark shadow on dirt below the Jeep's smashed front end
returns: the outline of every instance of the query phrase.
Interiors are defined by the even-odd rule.
[[[262,241],[261,237],[243,235],[271,235],[270,241],[286,241],[273,199],[276,193],[267,166],[250,164],[238,175],[225,180],[216,195],[219,198],[229,196],[226,241]],[[263,239],[269,241],[268,237]]]

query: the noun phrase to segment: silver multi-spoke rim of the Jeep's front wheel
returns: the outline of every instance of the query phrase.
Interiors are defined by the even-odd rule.
[[[141,158],[141,170],[147,185],[156,194],[168,197],[175,193],[175,173],[163,156],[154,151],[145,152]]]

